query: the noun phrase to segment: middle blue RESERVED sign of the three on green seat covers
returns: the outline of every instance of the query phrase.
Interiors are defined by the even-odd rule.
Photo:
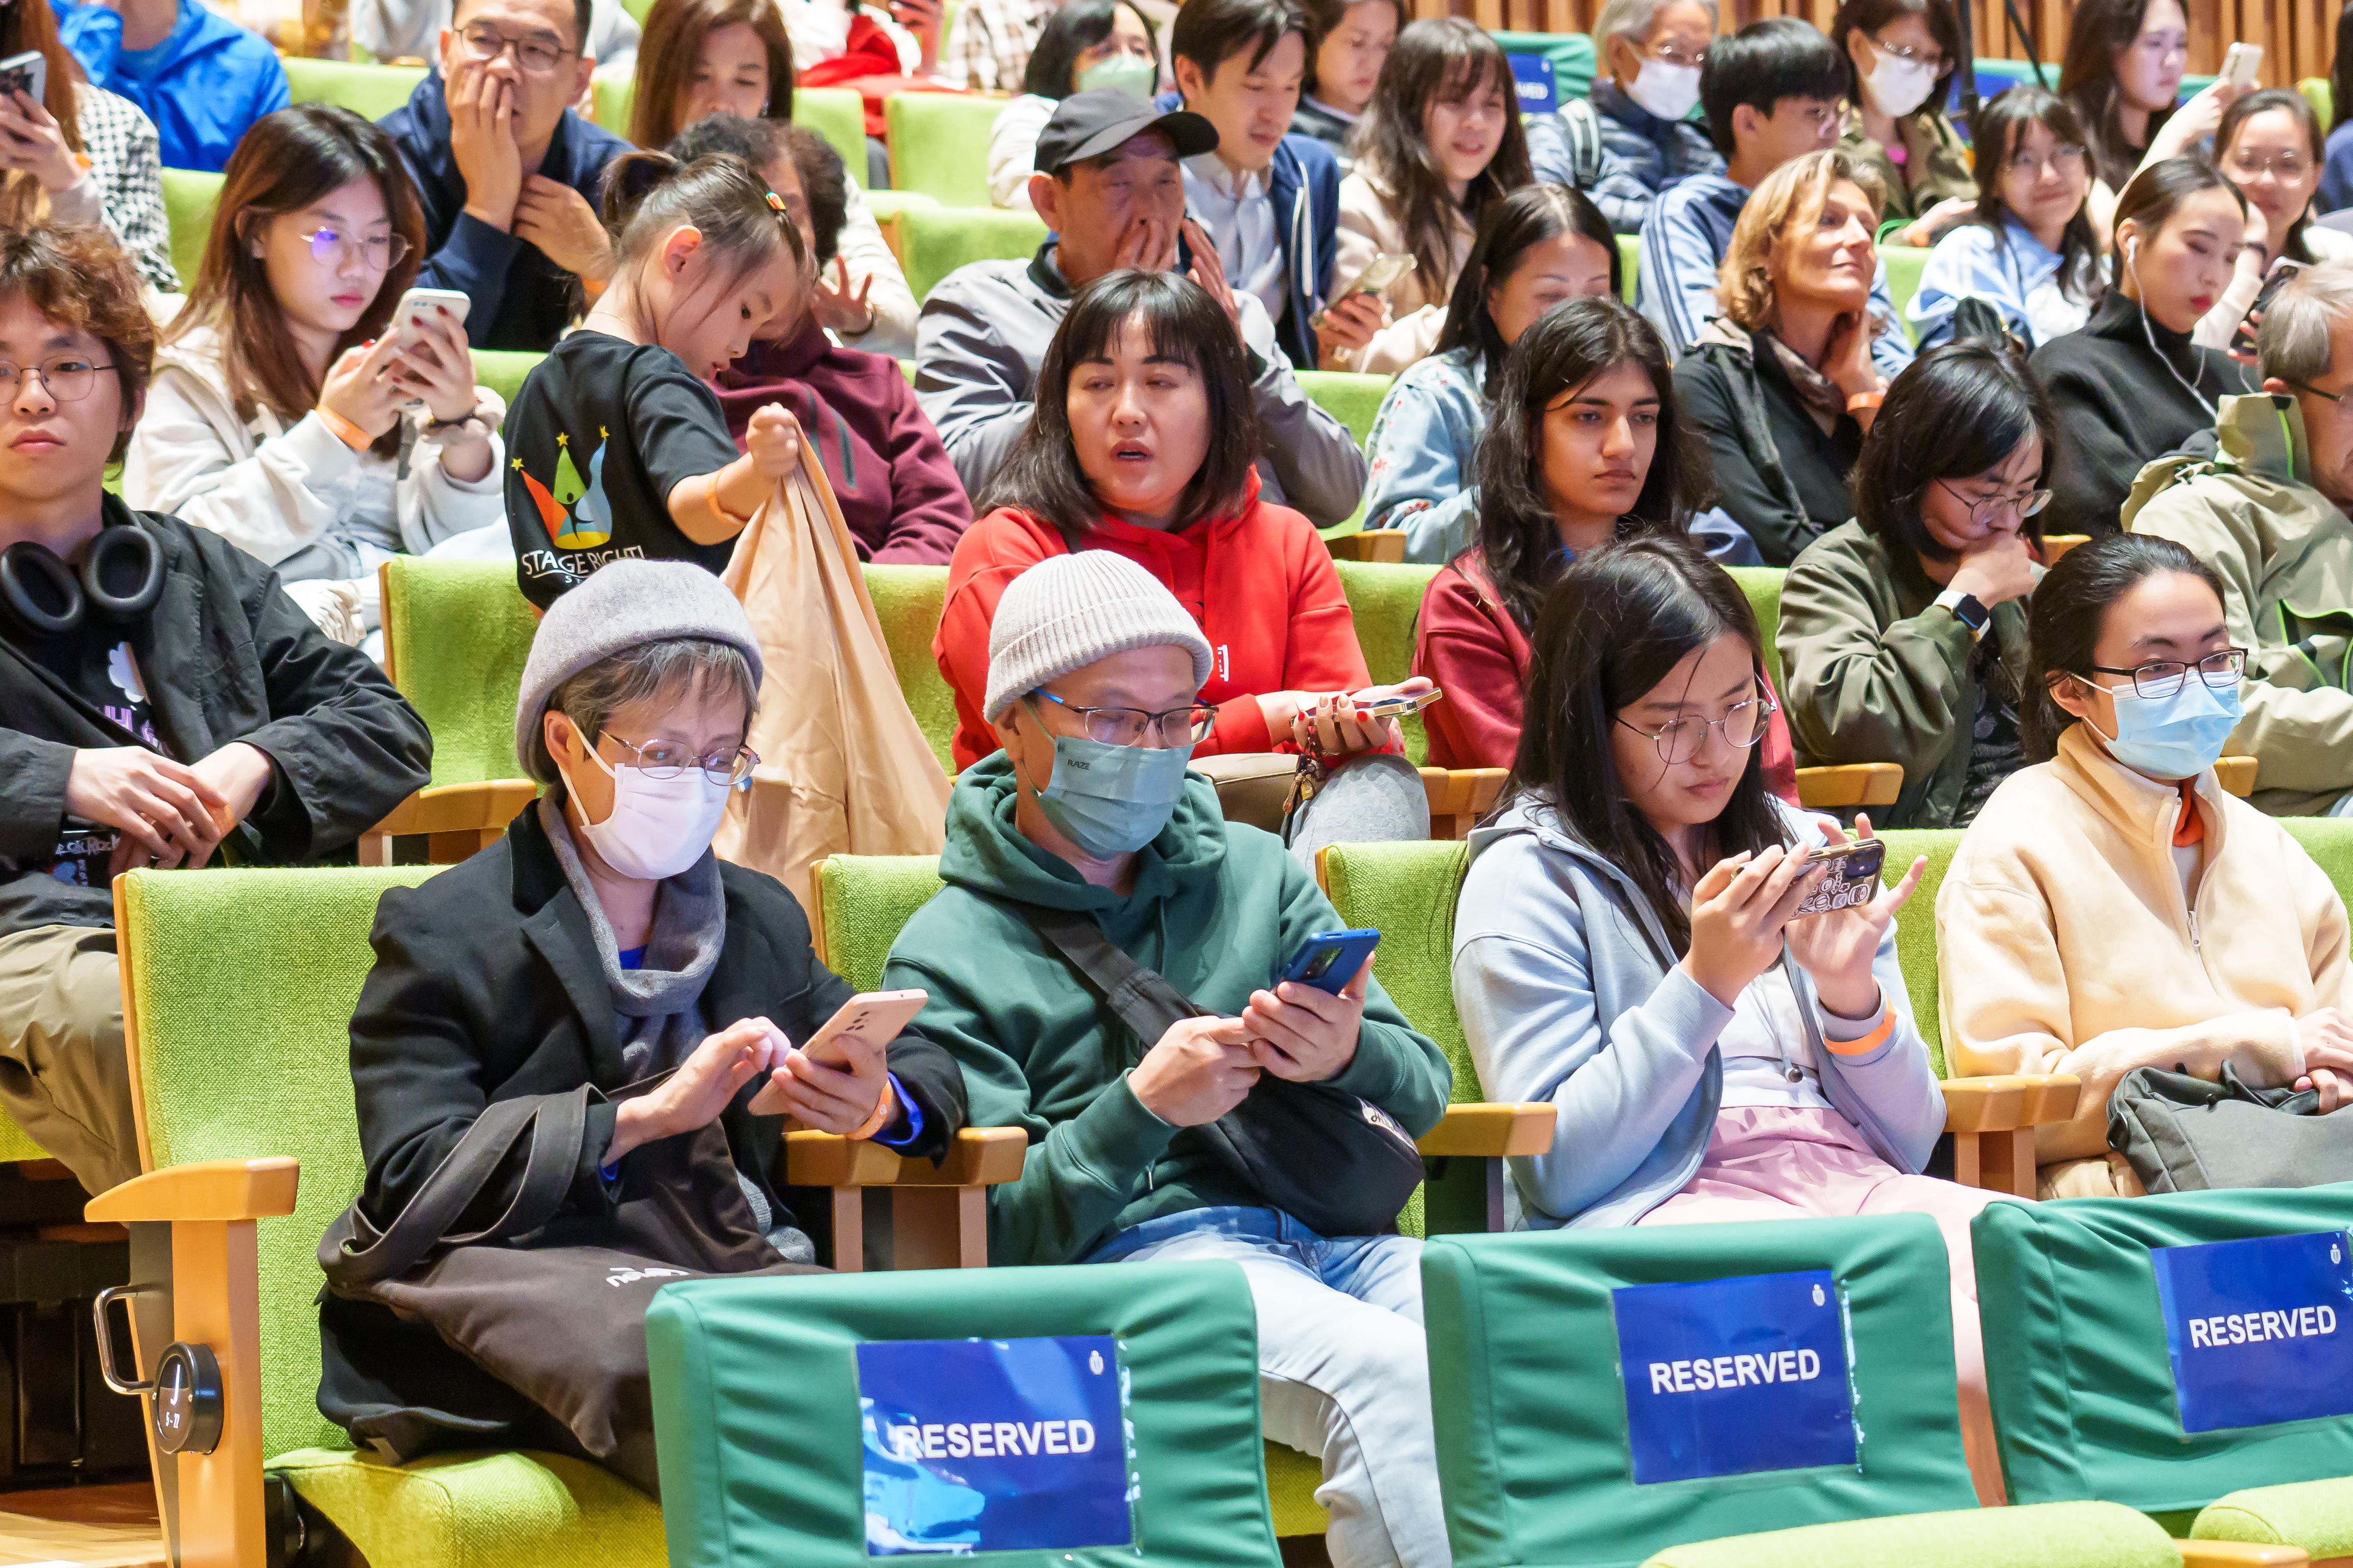
[[[1609,1293],[1633,1479],[1854,1465],[1845,1314],[1828,1269]]]

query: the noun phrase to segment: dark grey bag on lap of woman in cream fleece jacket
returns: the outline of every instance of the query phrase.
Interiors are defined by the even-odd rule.
[[[2320,1114],[2315,1088],[2252,1088],[2134,1067],[2108,1095],[2108,1147],[2151,1192],[2322,1187],[2353,1180],[2353,1112]]]

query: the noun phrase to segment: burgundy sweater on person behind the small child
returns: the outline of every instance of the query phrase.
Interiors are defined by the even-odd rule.
[[[736,447],[762,404],[793,411],[833,480],[859,559],[946,567],[955,555],[972,501],[896,360],[835,348],[812,315],[795,339],[755,339],[720,371],[718,393]]]

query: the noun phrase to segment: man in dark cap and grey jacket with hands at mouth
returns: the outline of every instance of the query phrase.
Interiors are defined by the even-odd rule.
[[[1078,92],[1038,136],[1031,202],[1052,230],[1028,261],[974,261],[922,301],[915,395],[979,496],[1031,423],[1031,393],[1071,310],[1106,273],[1184,268],[1226,310],[1249,369],[1259,482],[1315,527],[1355,512],[1365,454],[1355,435],[1301,390],[1257,294],[1228,287],[1217,244],[1186,216],[1179,160],[1217,148],[1191,110],[1158,113],[1125,92]],[[1188,256],[1188,261],[1184,261]]]

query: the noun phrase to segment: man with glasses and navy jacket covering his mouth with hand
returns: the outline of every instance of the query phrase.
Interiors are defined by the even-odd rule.
[[[598,183],[631,146],[572,110],[588,26],[588,0],[461,0],[440,71],[384,120],[426,207],[416,287],[473,299],[475,348],[546,353],[572,280],[593,296],[612,277]]]

